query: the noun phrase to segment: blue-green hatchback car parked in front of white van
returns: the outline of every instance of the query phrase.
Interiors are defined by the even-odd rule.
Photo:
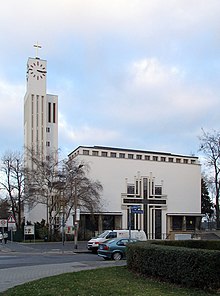
[[[126,256],[126,246],[129,243],[138,242],[137,239],[129,238],[114,238],[104,243],[99,244],[98,256],[103,257],[105,260],[121,260]]]

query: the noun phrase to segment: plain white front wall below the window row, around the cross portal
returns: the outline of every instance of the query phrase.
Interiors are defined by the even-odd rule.
[[[132,182],[140,176],[155,177],[155,184],[163,182],[163,193],[168,195],[168,212],[200,213],[200,165],[164,163],[134,159],[78,155],[88,162],[93,179],[103,185],[103,211],[121,211],[121,193],[126,192],[126,178]]]

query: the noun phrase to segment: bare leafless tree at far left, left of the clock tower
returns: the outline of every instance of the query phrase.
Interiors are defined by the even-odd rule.
[[[2,179],[0,185],[10,201],[12,214],[15,217],[18,229],[23,221],[24,202],[24,170],[23,156],[19,152],[7,152],[2,157],[1,164]]]

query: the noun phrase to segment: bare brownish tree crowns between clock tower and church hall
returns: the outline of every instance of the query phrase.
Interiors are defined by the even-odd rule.
[[[47,159],[31,150],[28,154],[32,167],[26,168],[26,199],[33,207],[46,206],[50,237],[61,215],[65,223],[72,212],[76,218],[79,209],[89,213],[98,210],[102,186],[87,176],[88,164],[73,160],[59,162],[56,153]],[[61,223],[58,224],[58,228],[61,227]]]

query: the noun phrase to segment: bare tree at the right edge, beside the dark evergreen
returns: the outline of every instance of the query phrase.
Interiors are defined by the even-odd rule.
[[[200,151],[205,155],[206,165],[211,169],[210,183],[214,187],[216,225],[220,229],[220,132],[205,132],[202,130],[200,137]]]

